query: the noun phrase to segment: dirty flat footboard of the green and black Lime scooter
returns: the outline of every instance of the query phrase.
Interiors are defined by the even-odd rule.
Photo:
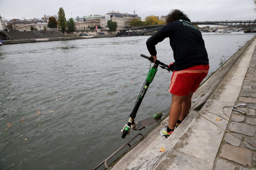
[[[163,114],[161,112],[158,112],[158,113],[156,113],[154,115],[148,116],[148,117],[146,117],[144,119],[141,119],[139,121],[135,121],[134,122],[135,127],[132,126],[132,129],[134,129],[134,130],[141,130],[141,129],[145,128],[146,126],[151,125],[154,122],[160,121],[162,115]]]

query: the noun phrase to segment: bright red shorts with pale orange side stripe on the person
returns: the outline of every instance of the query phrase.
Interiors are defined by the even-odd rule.
[[[185,70],[173,71],[169,92],[178,96],[186,96],[195,92],[202,80],[207,76],[209,64],[197,65]]]

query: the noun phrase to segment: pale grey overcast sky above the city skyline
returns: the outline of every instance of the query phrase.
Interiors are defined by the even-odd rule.
[[[59,8],[66,19],[87,15],[105,15],[109,11],[147,16],[167,15],[172,9],[184,11],[191,21],[253,20],[253,0],[0,0],[0,15],[7,20],[42,18],[57,15]],[[71,14],[72,13],[72,14]]]

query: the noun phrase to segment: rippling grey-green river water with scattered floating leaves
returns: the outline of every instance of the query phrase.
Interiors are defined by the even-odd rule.
[[[202,35],[211,75],[255,34]],[[0,169],[93,169],[137,133],[145,134],[150,128],[122,139],[120,130],[150,68],[140,57],[149,55],[148,38],[0,46]],[[168,39],[157,51],[158,60],[173,62]],[[136,120],[168,113],[170,76],[158,69]]]

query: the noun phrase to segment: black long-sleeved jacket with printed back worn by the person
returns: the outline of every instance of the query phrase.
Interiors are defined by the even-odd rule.
[[[183,70],[201,64],[209,64],[201,32],[186,17],[163,26],[146,42],[151,55],[156,55],[155,45],[169,37],[175,60],[174,70]]]

